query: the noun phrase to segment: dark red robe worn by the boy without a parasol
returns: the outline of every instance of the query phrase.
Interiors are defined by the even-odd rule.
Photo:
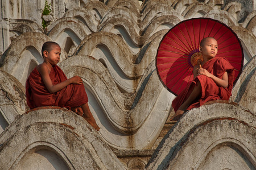
[[[56,85],[67,80],[64,72],[55,65],[49,73],[52,84]],[[26,82],[27,105],[30,109],[40,106],[60,106],[71,109],[88,102],[84,85],[70,84],[56,93],[49,93],[43,79],[35,68]]]

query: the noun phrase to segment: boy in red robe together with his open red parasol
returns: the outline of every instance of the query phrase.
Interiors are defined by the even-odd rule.
[[[171,121],[205,102],[228,100],[242,67],[241,42],[224,23],[193,18],[172,27],[156,55],[160,80],[177,96],[172,102],[175,114]]]

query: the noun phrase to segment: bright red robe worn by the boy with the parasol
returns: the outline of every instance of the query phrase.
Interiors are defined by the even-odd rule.
[[[204,75],[199,75],[193,80],[188,86],[172,101],[172,107],[176,112],[179,109],[180,105],[189,97],[193,90],[193,86],[197,85],[196,80],[200,81],[201,84],[201,95],[200,98],[197,98],[192,104],[188,107],[187,110],[191,110],[195,107],[200,107],[205,102],[213,101],[217,99],[228,100],[231,96],[231,91],[233,88],[234,81],[234,68],[223,57],[214,57],[213,59],[207,61],[202,68],[207,69],[207,71],[218,78],[222,78],[225,72],[228,73],[228,87],[222,88],[218,86],[212,78],[209,78]]]

